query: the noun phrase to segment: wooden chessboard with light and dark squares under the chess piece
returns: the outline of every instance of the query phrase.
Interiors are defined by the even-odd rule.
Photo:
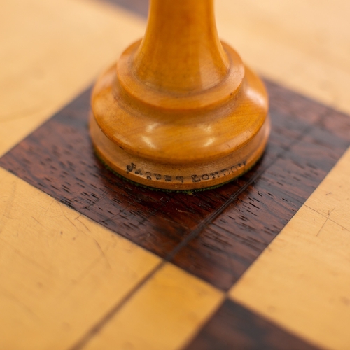
[[[87,128],[147,1],[0,3],[0,349],[350,349],[348,1],[217,1],[272,132],[192,193],[115,176]]]

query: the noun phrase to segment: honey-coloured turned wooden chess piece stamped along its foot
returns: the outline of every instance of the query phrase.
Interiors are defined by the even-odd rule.
[[[94,87],[90,132],[118,174],[191,190],[254,165],[269,135],[267,111],[262,81],[218,38],[214,0],[151,0],[144,39]]]

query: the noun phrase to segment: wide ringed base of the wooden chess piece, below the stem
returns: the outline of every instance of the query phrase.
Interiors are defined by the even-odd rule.
[[[210,188],[251,169],[269,136],[267,94],[236,52],[223,44],[236,72],[231,81],[193,96],[191,108],[190,94],[164,102],[154,101],[153,91],[149,97],[147,90],[128,88],[142,85],[125,83],[118,69],[129,69],[123,62],[132,62],[138,45],[94,87],[90,134],[99,158],[126,179],[166,190]],[[211,102],[213,94],[221,100]]]

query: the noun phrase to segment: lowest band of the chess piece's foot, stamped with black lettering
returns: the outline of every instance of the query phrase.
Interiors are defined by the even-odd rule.
[[[99,158],[126,179],[164,190],[199,190],[232,181],[255,165],[265,149],[269,118],[258,134],[239,150],[197,165],[164,164],[127,153],[106,137],[93,116],[90,134]]]

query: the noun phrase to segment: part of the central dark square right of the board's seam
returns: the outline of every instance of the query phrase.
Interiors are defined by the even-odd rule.
[[[269,147],[237,184],[260,176],[172,260],[223,290],[258,258],[349,145],[349,117],[293,94],[283,104],[280,88],[269,84],[269,91]]]

